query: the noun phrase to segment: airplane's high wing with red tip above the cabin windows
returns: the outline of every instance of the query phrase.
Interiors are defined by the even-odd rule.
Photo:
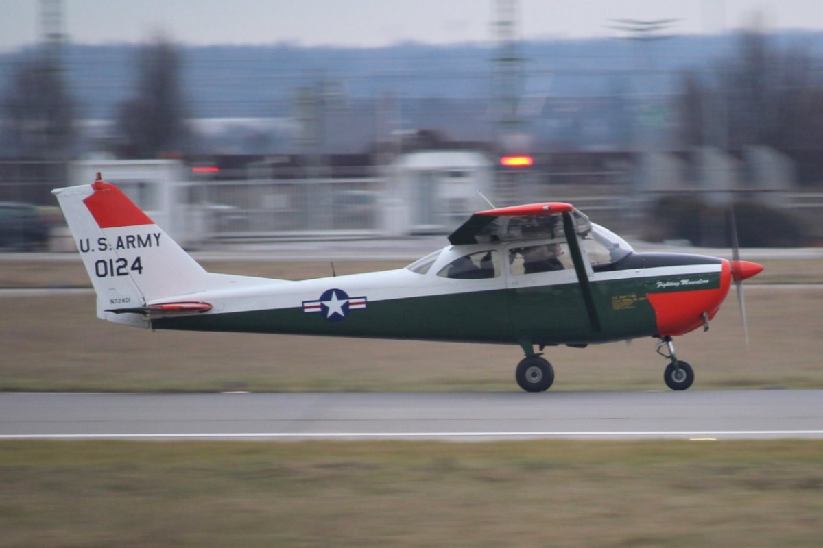
[[[449,235],[449,242],[453,246],[463,246],[557,237],[563,231],[564,213],[574,213],[577,219],[585,219],[583,214],[574,210],[573,205],[563,202],[542,202],[478,211]]]

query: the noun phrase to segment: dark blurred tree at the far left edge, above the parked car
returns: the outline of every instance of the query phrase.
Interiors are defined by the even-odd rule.
[[[72,155],[74,104],[56,62],[21,62],[2,97],[7,155],[62,160]]]

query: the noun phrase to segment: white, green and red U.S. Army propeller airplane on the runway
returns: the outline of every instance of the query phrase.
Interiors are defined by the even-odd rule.
[[[207,272],[100,173],[53,190],[97,298],[97,316],[153,329],[516,344],[515,379],[555,379],[546,347],[658,338],[663,379],[695,379],[672,338],[709,328],[732,283],[763,266],[639,253],[573,205],[479,211],[449,246],[405,268],[290,281]],[[732,235],[733,237],[733,235]],[[744,316],[745,317],[745,316]]]

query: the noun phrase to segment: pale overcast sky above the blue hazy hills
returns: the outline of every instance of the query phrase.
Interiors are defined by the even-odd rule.
[[[677,19],[674,33],[715,33],[749,25],[823,29],[821,0],[520,0],[527,39],[614,36],[614,19]],[[0,0],[0,51],[33,44],[40,0]],[[494,0],[63,0],[73,42],[140,42],[157,33],[183,44],[374,47],[486,42]]]

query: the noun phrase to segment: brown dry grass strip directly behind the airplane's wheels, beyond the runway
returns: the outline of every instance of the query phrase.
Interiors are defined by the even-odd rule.
[[[823,288],[733,296],[708,333],[677,338],[695,389],[821,388]],[[91,295],[4,297],[0,390],[518,390],[515,346],[290,335],[151,333],[95,317]],[[547,348],[552,390],[665,389],[653,338]]]

